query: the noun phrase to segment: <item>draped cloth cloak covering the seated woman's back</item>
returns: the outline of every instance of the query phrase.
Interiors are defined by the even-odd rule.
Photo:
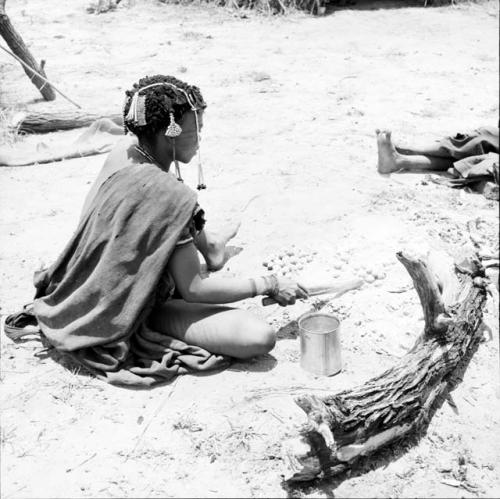
[[[196,194],[157,166],[132,163],[112,174],[58,260],[35,275],[33,311],[49,342],[119,385],[225,367],[227,358],[147,325],[195,207]]]

